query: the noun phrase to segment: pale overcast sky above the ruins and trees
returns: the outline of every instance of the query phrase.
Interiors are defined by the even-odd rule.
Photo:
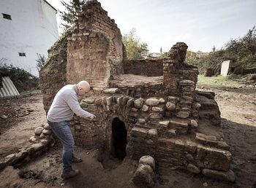
[[[66,0],[69,1],[69,0]],[[60,0],[48,0],[63,9]],[[256,0],[99,0],[122,34],[136,28],[150,52],[185,42],[189,50],[220,49],[256,25]],[[57,17],[60,23],[59,16]]]

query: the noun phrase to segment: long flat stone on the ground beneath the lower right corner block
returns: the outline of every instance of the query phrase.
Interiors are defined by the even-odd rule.
[[[203,175],[211,177],[213,179],[220,179],[224,181],[234,182],[236,180],[235,173],[232,170],[229,171],[215,171],[211,169],[203,169]]]

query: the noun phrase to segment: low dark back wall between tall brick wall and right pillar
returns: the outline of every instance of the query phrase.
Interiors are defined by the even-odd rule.
[[[163,74],[163,59],[157,60],[125,60],[124,74],[144,75],[159,77]]]

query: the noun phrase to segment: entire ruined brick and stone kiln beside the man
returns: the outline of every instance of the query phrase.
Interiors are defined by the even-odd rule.
[[[85,79],[93,90],[80,106],[97,120],[75,117],[77,145],[118,158],[148,154],[159,166],[206,176],[232,173],[214,93],[195,90],[198,71],[184,63],[186,52],[178,42],[165,59],[127,60],[115,21],[98,1],[88,1],[40,71],[45,110],[62,86]]]

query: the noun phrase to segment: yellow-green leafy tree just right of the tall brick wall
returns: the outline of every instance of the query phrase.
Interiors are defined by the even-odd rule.
[[[131,59],[142,59],[143,55],[148,52],[148,44],[140,42],[136,34],[136,29],[132,28],[128,34],[123,36],[124,46],[127,50],[127,58]]]

